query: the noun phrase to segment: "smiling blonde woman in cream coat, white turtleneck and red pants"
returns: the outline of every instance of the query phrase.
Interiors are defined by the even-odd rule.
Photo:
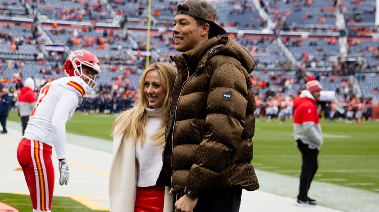
[[[169,188],[156,186],[163,166],[165,127],[176,68],[155,62],[143,72],[135,108],[113,123],[109,176],[111,212],[172,212]]]

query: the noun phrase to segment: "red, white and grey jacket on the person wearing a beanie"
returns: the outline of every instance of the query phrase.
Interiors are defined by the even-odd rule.
[[[310,148],[320,149],[323,136],[316,103],[317,101],[308,90],[303,90],[300,97],[293,100],[293,130],[295,140],[300,139]]]

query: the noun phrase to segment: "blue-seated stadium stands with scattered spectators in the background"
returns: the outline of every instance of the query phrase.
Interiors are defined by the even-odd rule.
[[[64,76],[64,59],[84,48],[96,54],[103,68],[101,86],[88,97],[133,101],[146,61],[172,62],[169,56],[179,54],[171,33],[178,3],[151,0],[147,39],[147,0],[0,0],[1,87],[17,95],[19,77],[33,77],[42,86]],[[291,99],[308,76],[316,76],[336,99],[378,104],[375,0],[211,3],[227,35],[256,60],[252,81],[257,98]]]

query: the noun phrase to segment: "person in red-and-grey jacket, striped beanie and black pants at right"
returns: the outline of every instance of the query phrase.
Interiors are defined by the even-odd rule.
[[[322,86],[313,77],[308,78],[306,89],[293,100],[293,130],[296,146],[302,154],[298,205],[316,205],[316,201],[308,197],[310,183],[316,174],[317,155],[323,144],[316,103],[320,99]]]

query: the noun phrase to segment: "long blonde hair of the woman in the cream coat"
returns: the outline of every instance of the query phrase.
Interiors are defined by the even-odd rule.
[[[163,101],[161,112],[162,128],[151,137],[157,146],[163,148],[165,146],[164,135],[169,113],[170,98],[172,95],[175,77],[177,76],[176,68],[168,62],[155,62],[145,69],[139,81],[139,91],[141,93],[141,97],[138,101],[137,106],[133,109],[123,112],[120,116],[118,116],[113,122],[112,129],[114,135],[120,135],[123,133],[126,138],[131,138],[134,142],[137,142],[139,138],[141,141],[141,146],[144,144],[146,140],[145,126],[147,124],[148,118],[145,108],[149,106],[149,101],[147,100],[144,92],[144,82],[146,74],[152,70],[158,71],[161,77],[162,87],[166,90],[166,97]]]

